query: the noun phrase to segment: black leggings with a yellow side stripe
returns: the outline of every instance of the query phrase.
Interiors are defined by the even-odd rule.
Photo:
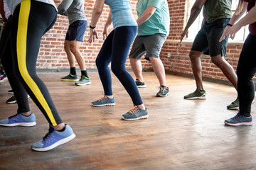
[[[2,63],[18,103],[18,112],[29,111],[31,96],[50,125],[63,123],[46,85],[36,74],[36,60],[42,36],[53,26],[57,12],[52,5],[33,0],[21,1],[11,22]]]

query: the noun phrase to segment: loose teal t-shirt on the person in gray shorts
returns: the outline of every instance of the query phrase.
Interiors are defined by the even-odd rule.
[[[154,35],[162,33],[169,35],[170,15],[169,7],[166,0],[138,0],[137,14],[138,17],[146,10],[147,6],[156,7],[154,14],[142,23],[138,28],[138,35]]]

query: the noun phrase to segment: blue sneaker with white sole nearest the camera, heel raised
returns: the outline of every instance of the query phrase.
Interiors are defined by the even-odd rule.
[[[49,132],[43,137],[43,140],[34,143],[32,149],[36,151],[48,151],[70,142],[74,138],[75,133],[69,125],[65,125],[65,130],[63,132],[55,130],[55,128],[50,125]]]

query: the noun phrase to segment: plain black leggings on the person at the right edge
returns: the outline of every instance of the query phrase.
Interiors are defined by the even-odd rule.
[[[240,114],[250,116],[251,104],[255,98],[253,77],[256,73],[256,35],[249,34],[242,47],[238,61],[238,98]]]

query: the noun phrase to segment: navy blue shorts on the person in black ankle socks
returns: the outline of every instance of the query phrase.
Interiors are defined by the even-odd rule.
[[[65,36],[65,40],[68,41],[80,41],[82,42],[83,37],[85,35],[85,30],[87,28],[87,21],[78,20],[70,24],[68,27],[67,34]]]

